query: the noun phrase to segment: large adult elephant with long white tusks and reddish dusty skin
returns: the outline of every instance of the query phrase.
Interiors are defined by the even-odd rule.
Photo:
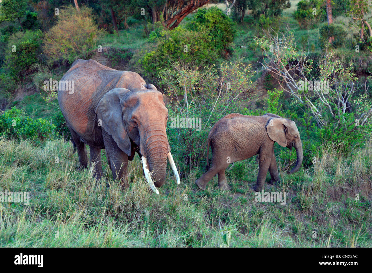
[[[87,144],[97,178],[102,175],[101,149],[106,149],[113,178],[121,179],[123,186],[127,185],[128,160],[133,160],[135,152],[154,192],[159,194],[155,186],[165,182],[167,157],[180,183],[166,133],[168,110],[154,85],[146,84],[135,72],[81,59],[60,82],[74,87],[59,88],[66,90],[58,90],[58,103],[84,168]]]

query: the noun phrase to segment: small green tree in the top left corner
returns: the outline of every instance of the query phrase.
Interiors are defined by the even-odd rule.
[[[3,0],[0,6],[0,22],[13,22],[16,19],[21,26],[21,18],[25,16],[27,8],[27,0]]]

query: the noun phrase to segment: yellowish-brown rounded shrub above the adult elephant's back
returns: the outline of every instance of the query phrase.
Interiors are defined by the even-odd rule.
[[[50,61],[62,59],[72,63],[77,58],[87,58],[99,34],[91,9],[81,7],[77,12],[73,6],[65,7],[60,10],[56,25],[45,34],[44,51]]]

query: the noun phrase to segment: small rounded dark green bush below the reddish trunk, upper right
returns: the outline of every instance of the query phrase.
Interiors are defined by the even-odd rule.
[[[327,45],[328,40],[331,36],[333,36],[334,38],[333,42],[331,42],[331,45],[334,48],[342,47],[346,42],[347,33],[344,27],[341,25],[331,24],[328,26],[328,24],[325,23],[319,28],[319,34],[319,42],[322,48]]]

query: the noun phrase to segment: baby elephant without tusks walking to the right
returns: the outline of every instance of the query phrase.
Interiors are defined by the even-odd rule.
[[[232,113],[221,118],[213,126],[207,141],[207,169],[209,167],[209,145],[212,147],[212,164],[196,185],[205,189],[207,183],[218,173],[218,187],[229,190],[225,169],[230,163],[259,155],[259,172],[255,191],[261,191],[270,172],[270,184],[279,180],[278,167],[274,155],[274,143],[297,152],[296,165],[288,173],[296,172],[302,164],[302,144],[296,124],[292,120],[274,114],[245,116]]]

